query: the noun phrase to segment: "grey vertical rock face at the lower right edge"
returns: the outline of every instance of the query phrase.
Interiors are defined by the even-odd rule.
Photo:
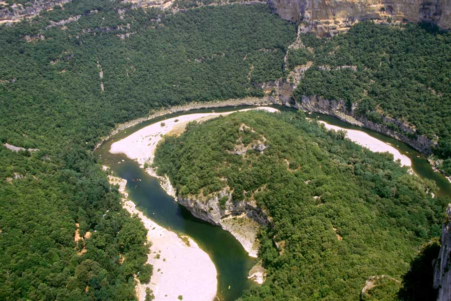
[[[441,230],[441,248],[434,270],[434,288],[438,301],[451,300],[451,204],[446,209],[446,221]]]

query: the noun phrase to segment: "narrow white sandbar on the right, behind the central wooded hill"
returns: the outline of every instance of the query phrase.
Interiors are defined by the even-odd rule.
[[[362,145],[362,146],[368,148],[369,150],[372,150],[372,152],[381,152],[381,153],[388,152],[393,155],[393,159],[395,161],[399,159],[401,161],[401,165],[408,166],[408,167],[410,167],[412,165],[409,157],[399,153],[399,150],[397,150],[393,146],[391,146],[379,139],[376,139],[376,138],[368,135],[367,133],[365,133],[363,131],[356,130],[356,129],[342,128],[342,127],[339,127],[336,125],[329,124],[324,121],[319,121],[319,122],[323,123],[326,126],[326,128],[328,128],[328,129],[345,130],[347,138],[349,138],[350,140],[354,141],[355,143],[357,143],[359,145]]]

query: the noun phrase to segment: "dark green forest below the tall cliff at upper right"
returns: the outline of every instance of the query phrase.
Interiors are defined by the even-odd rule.
[[[314,58],[296,100],[302,95],[343,99],[358,104],[357,113],[371,121],[383,123],[381,112],[405,121],[418,135],[439,137],[434,153],[451,165],[450,32],[362,22],[345,35],[319,39],[305,34],[301,40]],[[399,131],[395,124],[388,126]]]

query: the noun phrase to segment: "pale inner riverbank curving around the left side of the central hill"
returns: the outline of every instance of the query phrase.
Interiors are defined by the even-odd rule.
[[[264,106],[238,111],[247,111],[252,109],[262,109],[269,112],[279,111],[278,109]],[[110,153],[125,154],[128,158],[136,160],[141,168],[144,168],[147,165],[152,165],[156,146],[158,145],[158,142],[161,141],[164,135],[180,134],[184,131],[186,124],[191,121],[201,122],[214,117],[218,117],[219,115],[228,115],[234,112],[236,111],[223,113],[194,113],[165,119],[161,122],[155,122],[144,128],[141,128],[140,130],[119,141],[112,143],[110,147]],[[150,176],[158,178],[161,187],[166,191],[166,193],[177,200],[175,196],[175,189],[174,187],[172,187],[167,177],[157,176],[152,168],[146,168],[146,172]],[[192,208],[188,209],[191,210]],[[204,219],[199,215],[197,215],[197,217]],[[232,223],[227,219],[221,220],[220,218],[216,218],[215,220],[207,221],[219,225],[222,227],[222,229],[230,232],[242,244],[242,246],[248,252],[249,256],[257,257],[259,244],[256,240],[259,227],[257,227],[256,222],[249,219],[246,215],[243,215],[243,219],[240,219],[240,227],[237,227],[235,223]]]

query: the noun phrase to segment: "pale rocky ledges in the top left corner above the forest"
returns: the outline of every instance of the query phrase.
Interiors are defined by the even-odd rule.
[[[50,10],[54,6],[63,6],[72,0],[38,0],[30,1],[25,6],[14,4],[0,10],[0,24],[14,23],[37,16],[41,11]]]

